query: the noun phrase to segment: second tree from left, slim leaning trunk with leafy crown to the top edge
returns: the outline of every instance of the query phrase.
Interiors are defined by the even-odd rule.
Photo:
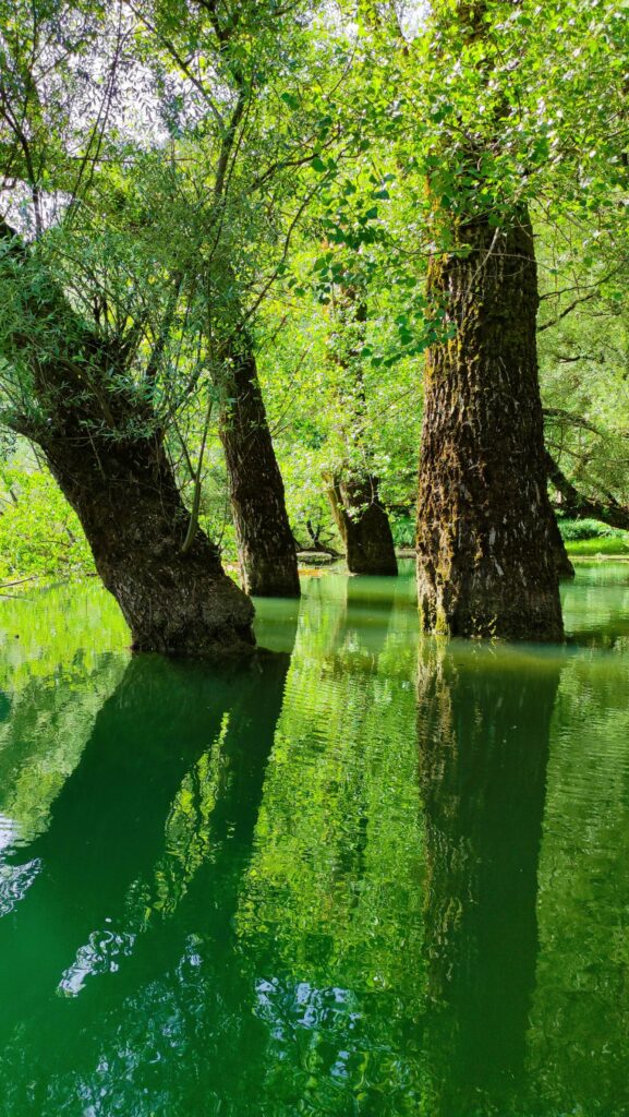
[[[326,79],[321,41],[313,52],[312,6],[304,2],[130,7],[162,108],[189,139],[189,213],[178,235],[194,242],[191,270],[206,297],[242,581],[255,594],[296,596],[295,541],[258,381],[257,323],[317,189],[311,163],[330,143],[325,85],[336,70]],[[178,228],[172,214],[166,220]]]

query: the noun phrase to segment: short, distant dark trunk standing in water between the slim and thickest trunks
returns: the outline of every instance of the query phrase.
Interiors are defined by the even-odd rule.
[[[327,498],[345,547],[351,574],[397,574],[391,525],[374,477],[327,477]]]

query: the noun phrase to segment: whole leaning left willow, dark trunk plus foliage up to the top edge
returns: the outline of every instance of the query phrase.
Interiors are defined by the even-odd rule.
[[[252,607],[191,531],[168,452],[182,277],[146,236],[146,183],[125,178],[125,41],[69,6],[3,12],[3,202],[20,230],[2,219],[2,420],[41,448],[134,647],[232,651],[254,642]]]

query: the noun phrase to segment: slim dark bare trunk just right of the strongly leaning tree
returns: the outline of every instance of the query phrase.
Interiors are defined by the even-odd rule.
[[[248,345],[231,352],[221,384],[226,402],[220,438],[242,586],[264,598],[298,598],[295,540],[277,465],[255,356]]]

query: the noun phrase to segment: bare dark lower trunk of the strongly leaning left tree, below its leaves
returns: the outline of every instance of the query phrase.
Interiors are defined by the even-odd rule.
[[[254,608],[200,529],[182,553],[189,513],[160,438],[58,432],[39,439],[75,509],[98,574],[139,651],[202,656],[250,649]]]

